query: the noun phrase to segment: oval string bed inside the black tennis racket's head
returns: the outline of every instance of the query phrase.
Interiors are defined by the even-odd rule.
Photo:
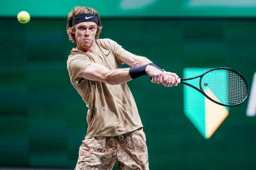
[[[237,105],[246,98],[248,88],[236,72],[225,69],[207,72],[201,81],[202,90],[212,100],[225,105]]]

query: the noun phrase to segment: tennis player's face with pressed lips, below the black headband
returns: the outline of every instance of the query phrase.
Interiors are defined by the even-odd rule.
[[[77,42],[77,48],[79,50],[87,51],[92,43],[95,41],[95,35],[97,32],[97,24],[95,22],[82,22],[75,26],[75,38]]]

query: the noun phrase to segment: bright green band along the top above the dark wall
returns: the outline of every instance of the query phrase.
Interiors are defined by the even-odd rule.
[[[2,0],[1,16],[26,10],[33,17],[67,17],[74,6],[92,7],[101,17],[256,17],[255,0]]]

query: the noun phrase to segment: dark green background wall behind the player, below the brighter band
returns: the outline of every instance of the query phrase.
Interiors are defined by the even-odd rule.
[[[87,108],[67,72],[64,19],[20,24],[0,18],[0,166],[74,168],[87,130]],[[102,18],[111,38],[182,77],[185,67],[230,67],[251,87],[256,71],[255,19]],[[121,65],[125,67],[125,65]],[[147,137],[151,170],[253,170],[256,119],[248,100],[208,140],[183,112],[183,85],[166,88],[147,76],[128,82]]]

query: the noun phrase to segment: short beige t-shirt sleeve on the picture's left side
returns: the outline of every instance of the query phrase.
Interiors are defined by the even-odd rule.
[[[79,81],[82,78],[82,72],[92,62],[85,55],[73,56],[67,61],[67,69],[70,80]]]

